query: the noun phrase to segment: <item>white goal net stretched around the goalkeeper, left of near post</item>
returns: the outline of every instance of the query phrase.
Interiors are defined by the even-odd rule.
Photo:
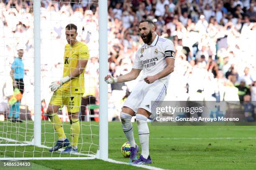
[[[37,9],[36,3],[40,4]],[[35,24],[36,12],[40,14],[40,27]],[[77,152],[61,152],[65,147],[49,152],[59,140],[53,124],[56,122],[51,122],[46,114],[51,97],[56,95],[49,85],[61,80],[65,62],[70,62],[64,54],[65,27],[71,23],[77,26],[77,40],[86,44],[90,53],[82,73],[84,78],[80,76],[79,80],[84,82],[85,91],[78,111]],[[40,32],[36,33],[35,28]],[[69,50],[74,49],[69,46]],[[96,158],[100,148],[98,0],[0,0],[0,51],[0,160]],[[38,52],[39,57],[35,56]],[[71,143],[74,131],[68,112],[75,104],[71,100],[72,92],[67,93],[70,100],[63,99],[67,96],[62,93],[55,96],[62,98],[56,114]],[[40,103],[36,100],[38,95]]]

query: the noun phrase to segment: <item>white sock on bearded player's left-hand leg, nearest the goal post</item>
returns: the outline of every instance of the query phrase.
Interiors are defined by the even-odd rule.
[[[129,141],[130,146],[135,147],[136,144],[133,136],[133,125],[131,124],[132,116],[127,113],[121,112],[120,118],[122,122],[123,132],[125,133],[125,136]]]

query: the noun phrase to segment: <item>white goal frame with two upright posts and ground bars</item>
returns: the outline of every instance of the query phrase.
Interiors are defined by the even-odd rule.
[[[34,158],[0,158],[1,160],[108,160],[108,85],[104,81],[108,73],[108,1],[99,0],[99,90],[100,90],[100,121],[99,121],[99,150],[96,155],[81,154],[88,157],[34,157]],[[34,133],[31,141],[17,141],[2,138],[9,142],[20,144],[0,144],[0,146],[26,146],[34,145],[40,148],[49,148],[41,145],[41,1],[33,0],[34,18]]]

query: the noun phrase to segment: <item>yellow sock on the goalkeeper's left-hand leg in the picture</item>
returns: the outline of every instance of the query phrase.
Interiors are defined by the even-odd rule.
[[[62,122],[59,116],[57,115],[57,113],[53,113],[52,115],[49,116],[49,118],[51,122],[54,124],[54,130],[57,132],[59,140],[67,139],[64,133],[64,129],[62,127]]]

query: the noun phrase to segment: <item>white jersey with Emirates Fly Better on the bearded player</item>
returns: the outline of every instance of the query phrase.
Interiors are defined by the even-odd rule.
[[[141,80],[146,76],[156,75],[166,67],[166,57],[175,59],[174,45],[171,40],[161,38],[156,35],[156,38],[151,45],[143,44],[136,52],[133,61],[133,68],[143,70]],[[166,87],[168,86],[170,75],[163,77],[161,80]]]

